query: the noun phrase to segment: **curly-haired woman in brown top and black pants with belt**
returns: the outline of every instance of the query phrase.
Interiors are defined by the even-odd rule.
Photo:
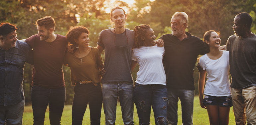
[[[76,47],[74,53],[66,53],[64,64],[70,67],[71,85],[74,85],[72,125],[81,125],[89,103],[92,125],[100,125],[102,91],[100,69],[103,61],[97,48],[89,46],[89,31],[85,27],[74,27],[66,38]]]

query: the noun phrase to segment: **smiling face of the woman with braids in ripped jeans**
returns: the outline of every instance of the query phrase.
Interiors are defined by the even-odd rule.
[[[146,30],[145,34],[142,37],[142,40],[144,40],[143,42],[146,46],[155,45],[155,39],[156,39],[156,36],[154,34],[154,31],[151,28]]]

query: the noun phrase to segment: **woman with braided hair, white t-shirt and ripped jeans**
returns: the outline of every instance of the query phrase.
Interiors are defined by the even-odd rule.
[[[164,47],[155,44],[154,31],[149,25],[134,28],[135,47],[132,51],[132,70],[139,64],[133,100],[137,108],[139,124],[150,124],[151,106],[155,124],[166,125],[167,88],[163,66]]]

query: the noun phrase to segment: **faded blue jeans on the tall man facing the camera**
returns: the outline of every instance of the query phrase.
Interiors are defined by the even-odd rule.
[[[133,125],[133,82],[112,82],[102,84],[105,124],[114,125],[116,105],[119,98],[124,125]]]

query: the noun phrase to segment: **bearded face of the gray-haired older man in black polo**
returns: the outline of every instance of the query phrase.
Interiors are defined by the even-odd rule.
[[[182,18],[175,16],[171,19],[172,34],[176,37],[182,36],[185,32],[186,26],[182,24]]]

